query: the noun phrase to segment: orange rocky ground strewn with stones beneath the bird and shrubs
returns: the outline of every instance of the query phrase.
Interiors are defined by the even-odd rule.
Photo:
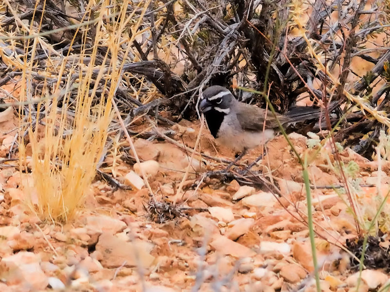
[[[8,118],[0,123],[1,132],[9,133],[17,125],[15,118]],[[140,122],[133,130],[143,127]],[[178,144],[193,147],[199,123],[182,122],[172,130]],[[12,132],[3,135],[3,157],[13,136]],[[329,151],[314,156],[315,150],[308,150],[307,137],[290,137],[300,154],[312,155],[309,172],[316,186],[312,205],[322,291],[356,291],[358,274],[351,269],[350,254],[342,249],[347,239],[356,237],[353,217],[345,198],[327,188],[340,184],[327,166],[327,157],[333,161],[333,156]],[[222,170],[226,164],[200,157],[192,161],[184,194],[178,196],[188,153],[167,141],[136,138],[135,145],[140,159],[158,162],[148,170],[155,203],[149,204],[146,187],[117,189],[97,178],[84,207],[62,225],[42,221],[29,211],[25,205],[29,194],[19,188],[21,175],[16,162],[2,165],[2,292],[315,291],[302,169],[282,136],[269,142],[267,156],[254,167],[278,187],[281,196],[258,185],[205,177],[207,171]],[[233,155],[215,147],[207,129],[200,148],[213,157]],[[260,148],[240,163],[254,161]],[[125,185],[137,184],[128,175],[137,173],[129,156],[131,152],[122,159],[108,156],[102,170]],[[387,163],[383,162],[378,173],[377,162],[351,150],[342,151],[340,157],[345,164],[355,161],[359,165],[361,183],[368,185],[361,189],[361,202],[370,205],[374,201],[376,187],[369,186],[378,181],[379,174],[382,190],[385,193],[388,189]],[[175,200],[177,206],[188,207],[180,209],[177,216],[169,214]],[[161,206],[167,207],[165,215],[171,219],[159,217]],[[156,223],[158,219],[164,222]],[[384,271],[369,268],[362,273],[359,291],[378,291],[388,278]]]

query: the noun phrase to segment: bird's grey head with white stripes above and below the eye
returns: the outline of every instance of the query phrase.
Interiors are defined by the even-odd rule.
[[[235,98],[229,89],[223,86],[213,85],[203,91],[200,110],[204,114],[215,110],[227,115],[230,113],[230,106],[234,100]]]

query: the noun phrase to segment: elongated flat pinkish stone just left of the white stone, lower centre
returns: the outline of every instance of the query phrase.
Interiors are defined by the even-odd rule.
[[[229,254],[237,258],[254,256],[256,254],[250,248],[218,234],[213,236],[210,246],[212,246],[216,252]]]

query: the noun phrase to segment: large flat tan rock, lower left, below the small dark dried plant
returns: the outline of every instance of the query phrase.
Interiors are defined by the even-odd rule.
[[[96,244],[93,257],[100,261],[103,267],[118,268],[137,267],[139,264],[148,268],[155,257],[150,254],[150,245],[147,242],[126,242],[110,233],[102,233]]]

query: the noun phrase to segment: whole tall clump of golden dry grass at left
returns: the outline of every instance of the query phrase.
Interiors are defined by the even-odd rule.
[[[143,12],[148,4],[140,3]],[[104,5],[108,7],[109,1]],[[101,9],[94,15],[93,7],[93,3],[86,7],[86,22],[80,22],[75,31],[75,38],[82,40],[79,54],[72,54],[74,38],[65,51],[67,55],[50,55],[39,72],[43,78],[40,92],[31,89],[31,80],[36,77],[33,58],[25,58],[20,64],[20,84],[25,93],[20,96],[20,163],[31,161],[32,170],[32,178],[23,179],[22,188],[30,195],[32,208],[42,218],[54,221],[66,221],[76,213],[96,175],[112,120],[112,99],[123,74],[122,62],[129,53],[120,43],[137,36],[133,33],[123,39],[121,33],[126,25],[134,32],[140,25],[139,20],[129,22],[134,15],[125,17],[125,8]],[[88,19],[92,15],[96,18]],[[114,15],[121,17],[115,20]],[[136,20],[138,17],[141,19],[142,14]],[[23,29],[34,35],[21,40],[26,44],[24,54],[34,56],[37,45],[42,46],[45,39],[39,36],[39,27]],[[90,29],[96,31],[92,45]],[[55,52],[51,44],[45,45]],[[101,47],[105,48],[103,56],[98,54]]]

